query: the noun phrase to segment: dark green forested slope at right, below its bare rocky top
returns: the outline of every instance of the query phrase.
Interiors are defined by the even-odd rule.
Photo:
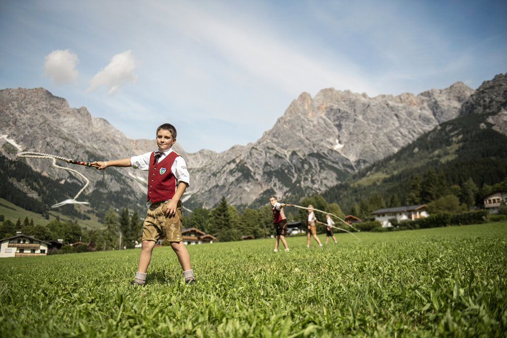
[[[477,187],[474,203],[480,205],[481,193],[486,193],[481,189],[507,177],[507,136],[490,128],[479,128],[485,118],[473,114],[443,123],[322,196],[364,216],[365,210],[354,210],[361,203],[373,204],[367,208],[370,211],[428,203],[450,193],[451,186],[462,188],[472,180]],[[377,197],[373,200],[380,197],[385,205],[370,203],[374,196]]]

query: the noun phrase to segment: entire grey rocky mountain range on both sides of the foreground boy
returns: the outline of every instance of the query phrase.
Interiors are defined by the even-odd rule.
[[[504,80],[500,74],[489,85]],[[212,207],[225,196],[229,203],[244,207],[266,204],[272,194],[295,199],[322,192],[440,123],[467,114],[470,95],[480,95],[480,90],[461,82],[418,95],[369,97],[332,88],[313,98],[303,93],[256,142],[221,153],[203,149],[193,154],[176,143],[174,149],[186,159],[192,177],[185,204],[190,209]],[[501,127],[505,112],[498,114],[499,123],[494,124],[505,128]],[[93,118],[85,107],[72,108],[43,88],[0,90],[0,149],[11,159],[19,151],[35,151],[92,161],[130,157],[152,151],[153,146],[154,140],[129,139],[107,121]],[[52,167],[50,160],[22,161],[62,184],[79,181]],[[86,194],[116,192],[131,206],[143,205],[145,172],[73,169],[90,179]]]

